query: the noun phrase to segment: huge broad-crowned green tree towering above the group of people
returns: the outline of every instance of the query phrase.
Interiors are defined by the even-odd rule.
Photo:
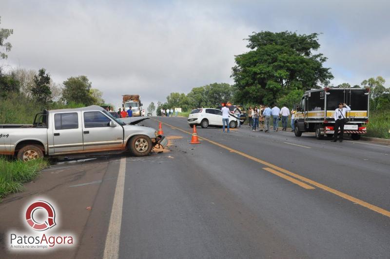
[[[273,103],[293,89],[328,85],[333,79],[321,53],[318,34],[262,31],[249,36],[250,51],[235,56],[232,77],[239,102]]]

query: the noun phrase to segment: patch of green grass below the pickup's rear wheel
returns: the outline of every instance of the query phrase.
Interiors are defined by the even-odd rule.
[[[0,158],[0,199],[7,194],[22,191],[22,183],[34,179],[47,164],[44,159],[22,162]]]

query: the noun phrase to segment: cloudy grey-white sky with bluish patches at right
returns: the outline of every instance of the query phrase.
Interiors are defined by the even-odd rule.
[[[385,0],[0,0],[0,27],[14,29],[6,64],[44,67],[56,82],[86,75],[106,101],[140,94],[146,109],[170,92],[233,83],[234,55],[262,30],[322,33],[333,84],[390,81],[389,11]]]

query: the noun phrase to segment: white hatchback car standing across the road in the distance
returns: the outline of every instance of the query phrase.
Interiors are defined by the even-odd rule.
[[[188,124],[192,128],[194,125],[200,125],[202,128],[208,126],[222,126],[222,111],[214,108],[199,108],[193,110],[188,116]],[[229,115],[229,127],[237,127],[237,118]]]

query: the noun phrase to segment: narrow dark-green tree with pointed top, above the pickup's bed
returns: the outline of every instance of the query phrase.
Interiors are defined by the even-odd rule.
[[[51,100],[50,75],[45,74],[44,68],[39,69],[38,75],[34,76],[34,84],[31,88],[31,95],[37,103],[46,105]]]

